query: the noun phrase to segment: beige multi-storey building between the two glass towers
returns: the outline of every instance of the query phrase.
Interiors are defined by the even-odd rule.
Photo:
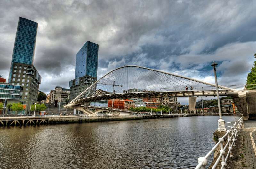
[[[49,96],[50,107],[57,107],[59,104],[61,106],[68,104],[69,95],[70,95],[70,89],[65,89],[65,88],[62,88],[61,86],[56,86],[55,90],[51,90],[50,92],[50,96]]]

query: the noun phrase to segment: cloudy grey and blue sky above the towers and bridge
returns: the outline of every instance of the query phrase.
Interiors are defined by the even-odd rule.
[[[0,1],[0,75],[8,78],[19,16],[38,22],[40,90],[68,88],[75,57],[99,44],[98,78],[140,65],[220,85],[245,84],[256,53],[256,1]],[[181,102],[184,102],[180,99]],[[184,102],[185,103],[185,102]]]

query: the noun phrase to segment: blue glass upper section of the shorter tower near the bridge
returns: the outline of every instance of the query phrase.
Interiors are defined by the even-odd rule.
[[[87,41],[76,54],[75,79],[85,75],[97,77],[99,45]]]

